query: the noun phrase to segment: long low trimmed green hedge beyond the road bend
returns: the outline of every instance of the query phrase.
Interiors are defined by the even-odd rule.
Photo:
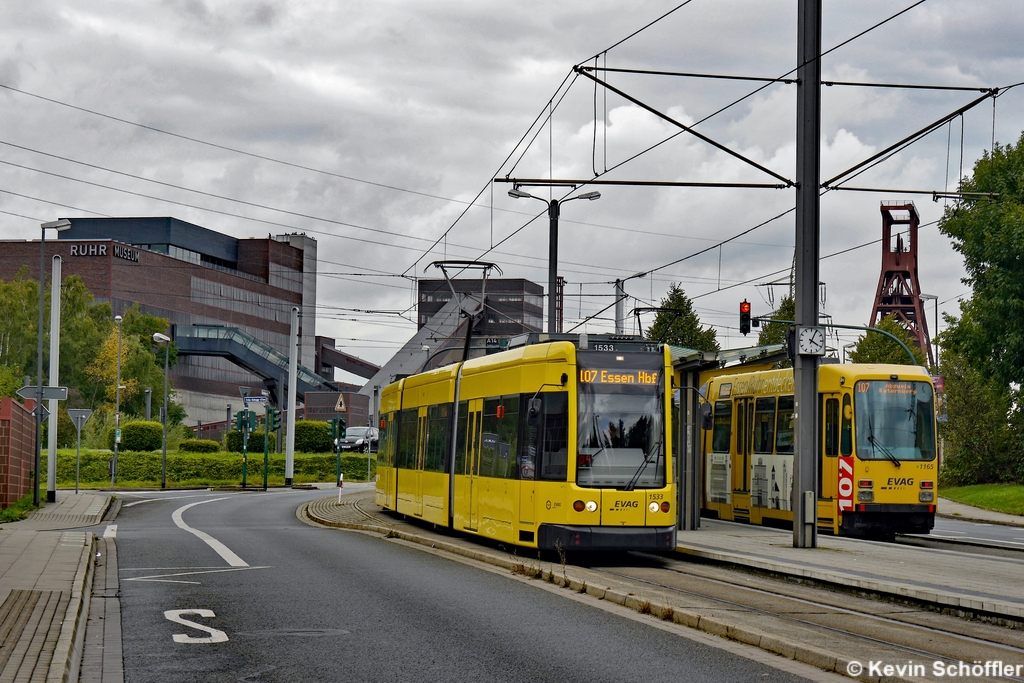
[[[87,451],[82,453],[81,482],[110,484],[108,463],[114,457],[105,451]],[[333,454],[302,454],[294,461],[294,478],[303,481],[334,481],[337,459]],[[371,459],[371,477],[376,471],[376,459]],[[118,455],[118,481],[133,483],[150,483],[160,485],[160,453],[138,453],[122,451]],[[41,479],[46,477],[46,459],[43,459]],[[353,481],[365,481],[367,477],[367,459],[361,455],[343,455],[341,471],[345,478]],[[279,479],[285,476],[285,456],[271,454],[268,472]],[[263,455],[250,454],[248,467],[248,482],[251,485],[262,483]],[[175,482],[210,482],[210,483],[241,483],[242,458],[237,454],[167,454],[167,483]],[[75,451],[57,452],[57,484],[60,486],[75,485]]]

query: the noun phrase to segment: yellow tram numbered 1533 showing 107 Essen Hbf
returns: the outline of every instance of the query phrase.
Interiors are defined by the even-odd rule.
[[[530,548],[674,550],[669,351],[591,346],[525,344],[385,387],[377,504]]]

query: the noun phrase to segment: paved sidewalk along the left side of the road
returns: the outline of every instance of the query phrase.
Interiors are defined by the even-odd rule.
[[[98,524],[110,503],[58,490],[56,503],[0,526],[0,681],[78,680],[95,544],[78,527]]]

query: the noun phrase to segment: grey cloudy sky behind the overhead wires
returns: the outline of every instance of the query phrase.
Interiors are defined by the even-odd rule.
[[[823,47],[914,3],[825,0]],[[415,278],[434,276],[434,260],[483,258],[506,276],[546,284],[545,206],[511,199],[496,176],[773,181],[574,77],[573,65],[593,66],[595,55],[611,69],[761,78],[795,67],[796,0],[691,0],[624,41],[678,4],[3,3],[0,239],[37,239],[40,221],[90,215],[174,216],[239,238],[306,231],[319,246],[317,334],[383,362],[415,331]],[[824,56],[823,78],[1005,87],[1024,81],[1021,36],[1019,0],[926,0]],[[607,78],[794,177],[796,86],[769,84],[705,120],[764,84]],[[823,88],[822,179],[978,96]],[[821,300],[834,322],[866,324],[879,207],[895,200],[914,201],[925,225],[924,291],[940,311],[957,311],[968,289],[935,224],[943,202],[896,190],[954,188],[993,137],[1016,142],[1024,87],[995,102],[994,127],[986,100],[849,183],[891,191],[823,196]],[[599,201],[562,210],[566,329],[611,302],[615,278],[648,272],[627,282],[628,310],[656,304],[678,282],[724,347],[753,341],[736,330],[738,303],[764,313],[787,289],[793,214],[769,219],[793,207],[792,189],[599,189]],[[930,327],[933,311],[929,302]],[[612,326],[609,311],[579,330]]]

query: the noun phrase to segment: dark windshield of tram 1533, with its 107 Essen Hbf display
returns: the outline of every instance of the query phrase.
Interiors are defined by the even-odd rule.
[[[665,486],[662,355],[580,352],[577,364],[577,484],[623,489]]]

